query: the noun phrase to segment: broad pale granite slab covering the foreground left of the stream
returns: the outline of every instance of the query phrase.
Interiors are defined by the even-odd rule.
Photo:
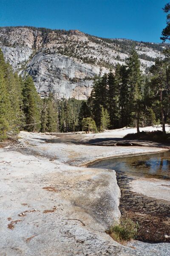
[[[116,174],[85,166],[107,157],[166,150],[94,145],[96,139],[121,140],[124,133],[20,132],[20,143],[1,145],[0,256],[170,255],[168,243],[123,246],[105,233],[120,216]]]

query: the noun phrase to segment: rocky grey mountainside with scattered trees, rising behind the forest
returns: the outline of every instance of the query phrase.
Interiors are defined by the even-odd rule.
[[[55,91],[59,99],[87,99],[94,76],[124,64],[132,45],[143,72],[163,50],[160,44],[98,38],[78,30],[0,28],[0,48],[14,71],[28,72],[42,96]]]

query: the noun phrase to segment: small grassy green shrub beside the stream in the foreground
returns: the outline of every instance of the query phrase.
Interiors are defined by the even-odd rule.
[[[120,223],[110,227],[107,233],[117,242],[130,241],[137,235],[138,224],[128,217],[121,217]]]

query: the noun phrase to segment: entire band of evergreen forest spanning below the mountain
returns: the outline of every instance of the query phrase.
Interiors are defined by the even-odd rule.
[[[86,132],[170,122],[170,50],[142,75],[132,49],[125,65],[94,79],[87,101],[41,99],[31,76],[18,76],[0,50],[0,138],[32,132]]]

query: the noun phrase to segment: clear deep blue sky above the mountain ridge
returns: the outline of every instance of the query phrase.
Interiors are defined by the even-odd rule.
[[[168,0],[0,0],[0,26],[79,29],[105,38],[160,42]]]

